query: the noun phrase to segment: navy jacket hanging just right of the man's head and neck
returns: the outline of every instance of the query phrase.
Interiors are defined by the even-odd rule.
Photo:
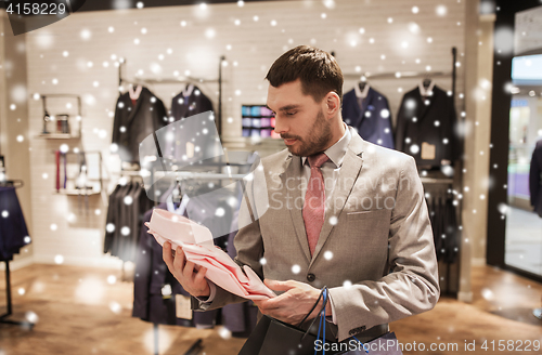
[[[363,140],[392,149],[395,144],[388,100],[371,87],[365,97],[360,97],[359,91],[357,86],[344,95],[343,120],[357,129]]]

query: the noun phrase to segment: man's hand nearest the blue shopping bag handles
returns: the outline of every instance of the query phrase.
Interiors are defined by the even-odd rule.
[[[297,326],[317,303],[320,290],[304,282],[294,280],[275,281],[264,279],[263,282],[273,291],[285,291],[281,295],[263,301],[254,301],[260,312],[267,316]],[[323,306],[323,298],[307,319],[318,316]],[[327,300],[325,314],[332,315],[332,306]]]

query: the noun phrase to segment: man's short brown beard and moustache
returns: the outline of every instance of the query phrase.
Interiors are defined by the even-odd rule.
[[[310,157],[317,153],[324,152],[332,139],[332,131],[331,123],[325,119],[322,110],[318,113],[317,120],[308,132],[309,134],[306,140],[301,140],[298,135],[288,134],[281,134],[281,137],[285,140],[297,140],[300,143],[297,148],[289,145],[287,146],[289,153],[295,156]]]

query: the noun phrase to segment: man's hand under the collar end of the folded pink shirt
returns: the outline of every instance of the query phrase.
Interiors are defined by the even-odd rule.
[[[182,288],[194,297],[209,297],[209,284],[205,279],[207,268],[199,267],[199,271],[194,268],[194,263],[188,261],[184,252],[180,247],[177,247],[175,257],[169,241],[164,242],[163,258],[168,265],[169,272],[181,284]]]

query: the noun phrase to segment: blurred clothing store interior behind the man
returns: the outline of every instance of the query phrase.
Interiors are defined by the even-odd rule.
[[[240,353],[258,307],[192,311],[149,225],[212,220],[235,258],[238,183],[286,148],[264,78],[299,44],[340,66],[345,123],[415,160],[440,298],[389,323],[403,354],[540,353],[540,1],[81,3],[17,35],[0,10],[0,355]]]

